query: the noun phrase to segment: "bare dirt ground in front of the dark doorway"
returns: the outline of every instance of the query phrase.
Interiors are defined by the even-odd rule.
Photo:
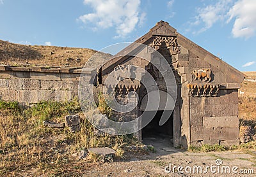
[[[150,144],[156,148],[156,152],[129,152],[125,155],[125,159],[99,164],[89,171],[84,171],[83,176],[255,176],[256,174],[256,150],[192,153],[173,148],[166,139],[152,139]],[[167,166],[171,166],[172,170],[166,168]],[[174,166],[183,169],[180,168],[178,172],[175,167],[173,172]]]

